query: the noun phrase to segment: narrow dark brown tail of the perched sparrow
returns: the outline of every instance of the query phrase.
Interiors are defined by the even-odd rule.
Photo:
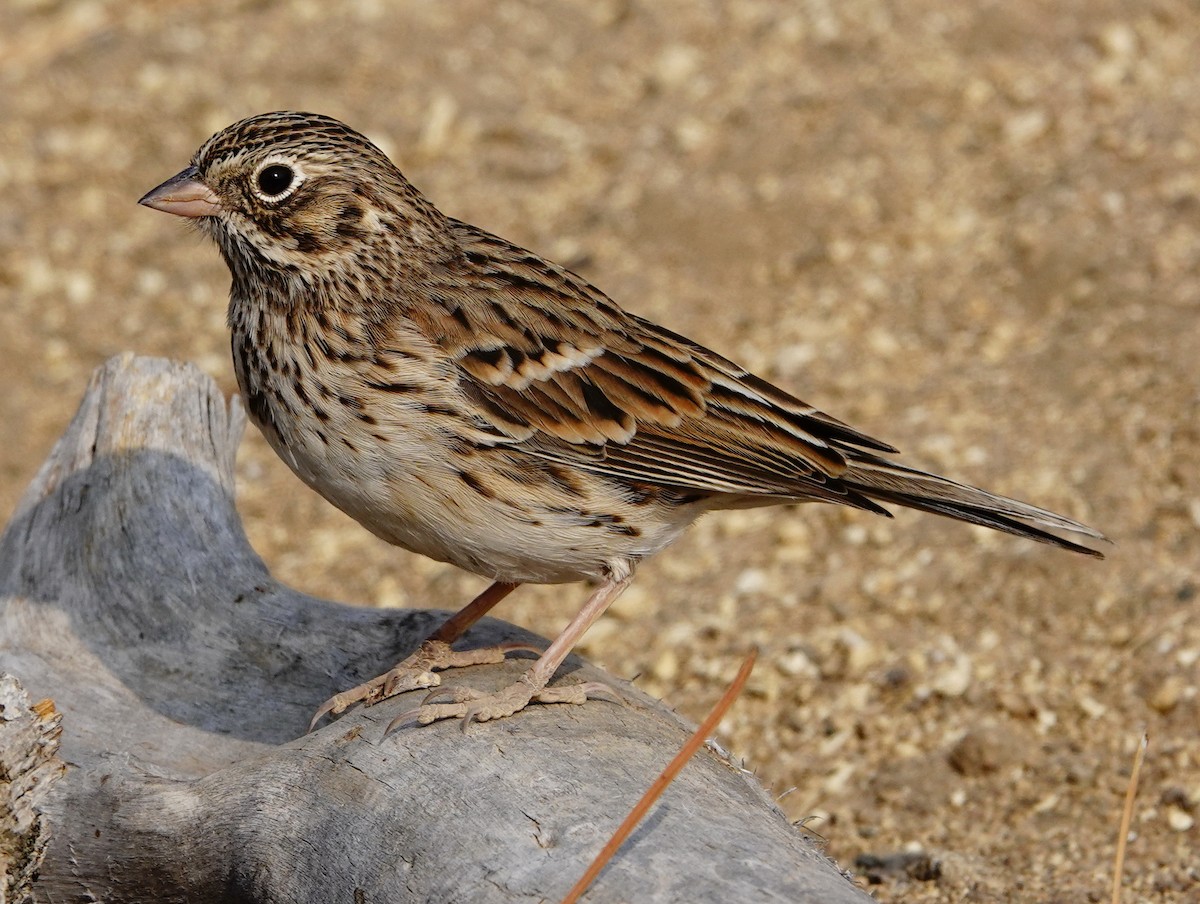
[[[840,475],[840,483],[870,499],[946,515],[1104,558],[1099,547],[1109,539],[1069,517],[875,456],[863,455],[847,463],[850,467]]]

